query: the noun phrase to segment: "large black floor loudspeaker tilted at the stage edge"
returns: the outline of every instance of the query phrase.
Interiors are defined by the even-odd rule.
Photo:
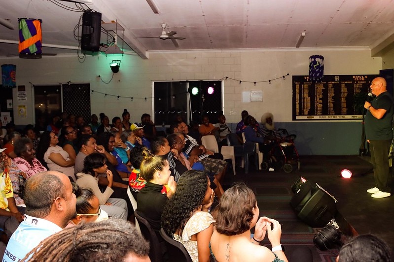
[[[294,196],[290,200],[291,207],[298,218],[309,226],[324,227],[336,215],[336,200],[318,184],[300,180],[292,186]]]

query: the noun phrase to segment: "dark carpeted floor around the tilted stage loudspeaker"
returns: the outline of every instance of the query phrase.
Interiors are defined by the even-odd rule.
[[[391,244],[391,240],[394,239],[393,236],[388,236],[387,230],[385,232],[385,230],[373,230],[371,227],[363,228],[365,223],[363,220],[368,217],[366,214],[369,212],[368,208],[372,208],[372,210],[383,209],[387,204],[393,203],[394,200],[386,198],[376,201],[370,198],[370,195],[366,192],[364,193],[367,188],[373,185],[373,175],[370,174],[371,165],[368,161],[358,156],[304,156],[300,157],[300,162],[300,171],[293,171],[290,174],[283,170],[256,171],[252,165],[249,174],[244,174],[244,169],[237,168],[237,175],[235,176],[232,175],[231,171],[228,172],[224,184],[225,187],[228,187],[235,181],[247,183],[256,194],[260,215],[272,217],[281,222],[282,244],[288,246],[287,252],[291,252],[293,248],[299,245],[308,246],[312,251],[314,262],[334,262],[340,247],[337,246],[328,251],[317,249],[313,244],[313,238],[321,228],[308,226],[298,219],[292,210],[289,204],[293,196],[291,186],[299,176],[318,183],[338,200],[336,204],[338,213],[339,216],[343,216],[340,219],[340,229],[344,233],[343,241],[346,241],[352,234],[372,232]],[[352,170],[359,177],[352,179],[338,177],[339,172],[344,168]],[[355,192],[362,195],[362,198],[354,198]],[[368,201],[366,202],[368,205],[364,204],[363,208],[358,210],[360,207],[356,207],[355,204],[359,205],[360,199]],[[360,216],[359,212],[363,216]],[[383,222],[384,225],[385,223]],[[266,239],[262,244],[269,246],[269,241]]]

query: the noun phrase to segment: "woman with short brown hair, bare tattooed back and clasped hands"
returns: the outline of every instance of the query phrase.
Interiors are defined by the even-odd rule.
[[[260,211],[256,197],[247,185],[237,183],[226,190],[216,210],[211,237],[212,255],[216,261],[287,262],[281,246],[281,224],[272,218],[258,218]],[[260,246],[266,234],[272,251]]]

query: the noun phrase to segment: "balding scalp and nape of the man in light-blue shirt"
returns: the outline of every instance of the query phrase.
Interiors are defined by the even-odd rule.
[[[57,171],[45,171],[33,175],[26,182],[26,214],[38,218],[47,217],[53,201],[66,197],[66,185],[70,179]]]

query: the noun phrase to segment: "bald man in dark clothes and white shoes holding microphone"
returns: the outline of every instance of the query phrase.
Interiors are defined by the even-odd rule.
[[[371,92],[376,97],[365,102],[365,135],[371,150],[375,187],[367,190],[373,198],[391,196],[389,184],[389,151],[393,140],[393,96],[387,91],[383,77],[372,80]]]

